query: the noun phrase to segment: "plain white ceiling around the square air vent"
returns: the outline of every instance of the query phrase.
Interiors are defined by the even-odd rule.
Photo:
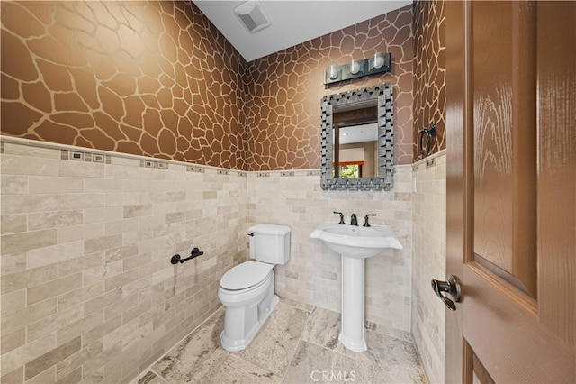
[[[259,0],[272,25],[255,33],[248,32],[234,13],[245,2],[193,0],[242,57],[252,61],[410,5],[412,0]]]

